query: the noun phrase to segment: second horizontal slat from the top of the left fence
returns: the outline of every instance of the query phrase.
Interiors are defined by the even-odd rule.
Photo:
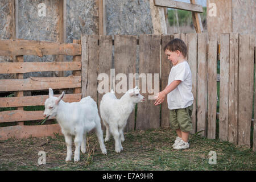
[[[81,70],[81,61],[0,63],[0,74],[77,70]]]

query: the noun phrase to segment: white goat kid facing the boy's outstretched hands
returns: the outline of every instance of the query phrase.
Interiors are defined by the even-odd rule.
[[[143,102],[145,98],[139,94],[137,86],[128,90],[120,99],[115,97],[112,90],[104,94],[100,104],[100,114],[104,125],[106,126],[105,142],[109,141],[110,133],[115,140],[115,152],[123,150],[122,142],[125,140],[123,129],[126,126],[127,119],[134,109],[135,104]]]

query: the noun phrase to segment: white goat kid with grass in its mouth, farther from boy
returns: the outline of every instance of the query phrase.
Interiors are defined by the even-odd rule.
[[[96,102],[90,97],[82,98],[80,102],[64,102],[61,99],[64,92],[59,97],[53,97],[53,90],[49,88],[49,98],[44,102],[44,117],[47,119],[55,117],[60,124],[67,144],[66,162],[72,159],[72,136],[75,135],[75,156],[74,162],[80,160],[80,147],[84,154],[86,152],[86,133],[96,129],[98,142],[102,154],[106,155],[103,134],[101,130],[101,119],[98,115]]]

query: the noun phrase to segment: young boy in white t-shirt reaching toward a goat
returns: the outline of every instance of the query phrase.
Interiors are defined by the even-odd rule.
[[[188,62],[187,46],[181,39],[172,39],[165,47],[164,53],[172,63],[168,85],[159,92],[155,106],[161,104],[167,95],[170,109],[171,128],[176,130],[177,137],[172,145],[176,150],[189,148],[188,135],[192,130],[191,114],[193,111],[192,74]]]

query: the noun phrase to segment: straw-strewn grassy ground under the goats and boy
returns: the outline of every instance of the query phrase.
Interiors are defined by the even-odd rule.
[[[86,154],[80,162],[65,163],[64,137],[0,141],[0,170],[256,170],[256,153],[246,146],[191,135],[187,150],[176,151],[171,145],[175,132],[166,129],[133,131],[125,134],[123,151],[114,152],[113,137],[105,142],[108,155],[101,154],[97,137],[88,135]],[[75,146],[72,147],[73,152]],[[38,152],[46,152],[46,165],[38,166]],[[89,151],[89,152],[88,152]],[[210,165],[209,152],[216,151],[217,164]]]

